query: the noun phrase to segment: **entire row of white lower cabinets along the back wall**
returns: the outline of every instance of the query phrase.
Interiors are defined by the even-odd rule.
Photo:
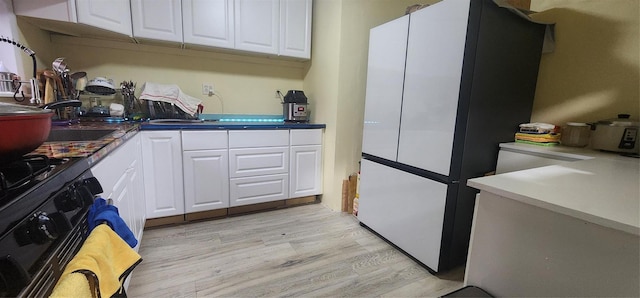
[[[322,129],[141,134],[147,218],[322,193]]]

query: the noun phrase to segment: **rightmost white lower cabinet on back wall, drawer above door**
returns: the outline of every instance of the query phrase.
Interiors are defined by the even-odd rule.
[[[322,193],[322,129],[291,130],[289,197]]]

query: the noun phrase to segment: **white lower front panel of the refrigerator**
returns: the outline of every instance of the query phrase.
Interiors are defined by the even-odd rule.
[[[358,219],[438,270],[447,185],[362,160]]]

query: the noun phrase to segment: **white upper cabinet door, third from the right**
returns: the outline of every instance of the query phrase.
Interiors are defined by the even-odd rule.
[[[185,43],[234,47],[233,0],[182,0]]]

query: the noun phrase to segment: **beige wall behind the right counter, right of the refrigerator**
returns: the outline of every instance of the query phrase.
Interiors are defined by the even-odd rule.
[[[556,23],[557,38],[542,56],[532,120],[639,119],[640,1],[532,0],[531,9]]]

